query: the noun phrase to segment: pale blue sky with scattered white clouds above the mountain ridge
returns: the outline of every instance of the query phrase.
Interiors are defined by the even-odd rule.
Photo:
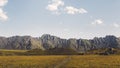
[[[0,36],[120,37],[120,0],[0,0]]]

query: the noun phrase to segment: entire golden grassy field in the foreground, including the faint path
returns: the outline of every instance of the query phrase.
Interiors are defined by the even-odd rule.
[[[0,68],[120,68],[120,56],[0,56]]]

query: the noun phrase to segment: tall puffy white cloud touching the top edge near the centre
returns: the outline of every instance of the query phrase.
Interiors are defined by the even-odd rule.
[[[47,9],[49,11],[58,11],[58,8],[64,6],[64,2],[62,0],[52,0],[50,4],[48,4]]]

